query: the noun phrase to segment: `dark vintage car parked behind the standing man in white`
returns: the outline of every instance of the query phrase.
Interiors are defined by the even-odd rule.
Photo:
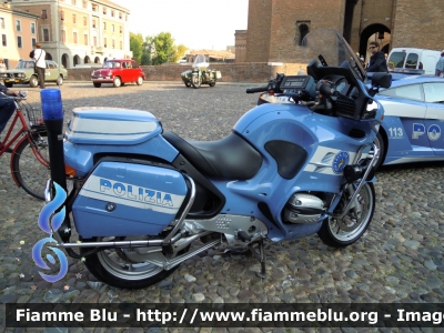
[[[56,82],[58,85],[63,84],[63,80],[68,78],[68,71],[63,65],[59,65],[52,60],[46,60],[47,69],[44,71],[44,82]],[[34,72],[34,62],[32,60],[20,60],[13,70],[0,73],[4,85],[11,88],[13,84],[28,84],[32,88],[39,85],[39,78]]]

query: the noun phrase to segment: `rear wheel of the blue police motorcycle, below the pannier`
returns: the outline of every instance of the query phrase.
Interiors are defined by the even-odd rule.
[[[95,238],[89,241],[109,242],[120,240],[128,240],[128,238]],[[168,255],[164,253],[164,256],[172,259],[179,254],[188,252],[190,246],[183,249],[175,255]],[[91,248],[81,248],[80,252],[83,254],[91,250]],[[109,285],[123,289],[141,289],[150,286],[162,281],[180,266],[179,264],[167,271],[149,262],[132,262],[125,256],[121,249],[107,249],[90,254],[85,258],[84,264],[91,274],[98,280]]]

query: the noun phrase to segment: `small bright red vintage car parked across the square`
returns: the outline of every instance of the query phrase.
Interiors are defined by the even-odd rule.
[[[130,59],[108,60],[101,69],[91,72],[91,80],[95,88],[100,88],[102,83],[121,87],[125,83],[135,82],[141,85],[144,79],[145,74],[139,63]]]

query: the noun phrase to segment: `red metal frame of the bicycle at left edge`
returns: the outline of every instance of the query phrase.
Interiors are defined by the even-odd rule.
[[[31,135],[32,129],[29,128],[28,122],[27,122],[27,120],[24,119],[23,112],[22,112],[22,110],[21,110],[19,103],[18,103],[17,101],[14,101],[14,102],[16,102],[16,114],[14,114],[14,117],[13,117],[12,123],[11,123],[11,125],[9,127],[8,132],[7,132],[7,134],[6,134],[6,137],[4,137],[4,140],[3,140],[3,142],[2,142],[2,143],[3,143],[3,148],[0,150],[0,157],[2,157],[3,153],[4,153],[14,142],[17,142],[16,145],[14,145],[14,148],[12,149],[11,161],[10,161],[10,169],[11,169],[11,175],[12,175],[12,179],[13,179],[16,185],[20,188],[19,181],[17,180],[16,172],[14,172],[14,170],[13,170],[13,157],[14,157],[14,154],[16,154],[17,148],[22,143],[22,141],[24,141],[24,140],[28,140],[28,141],[29,141],[29,143],[30,143],[30,145],[31,145],[31,149],[32,149],[32,152],[33,152],[36,159],[39,161],[39,163],[41,163],[42,165],[48,167],[48,168],[49,168],[49,163],[48,163],[47,160],[44,160],[44,159],[40,155],[40,153],[38,153],[36,147],[34,147],[34,144],[33,144],[32,135]],[[20,121],[20,123],[21,123],[21,129],[20,129],[12,138],[10,138],[10,137],[12,135],[12,131],[13,131],[16,124],[18,123],[18,121]],[[22,138],[19,140],[20,137],[22,137]]]

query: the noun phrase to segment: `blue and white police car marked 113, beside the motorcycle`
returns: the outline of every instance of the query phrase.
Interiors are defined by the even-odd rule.
[[[375,97],[385,110],[377,167],[444,160],[444,80],[410,75]]]

